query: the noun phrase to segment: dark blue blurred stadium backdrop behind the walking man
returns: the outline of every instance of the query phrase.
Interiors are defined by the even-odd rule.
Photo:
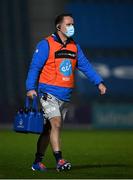
[[[24,104],[25,80],[35,46],[54,31],[54,18],[64,11],[73,14],[76,25],[75,40],[105,79],[108,87],[107,95],[100,97],[97,88],[88,83],[81,73],[77,73],[77,88],[67,123],[90,125],[97,120],[94,114],[99,113],[103,113],[100,114],[103,122],[102,117],[106,113],[109,115],[109,122],[115,121],[115,125],[120,124],[119,117],[125,117],[126,120],[128,115],[132,127],[131,0],[1,0],[0,122],[12,122],[15,110]],[[110,106],[111,103],[113,105]],[[107,104],[108,108],[105,109]],[[118,106],[120,108],[115,111]],[[102,107],[100,112],[99,107]],[[123,109],[126,109],[125,114],[121,113]],[[127,127],[126,124],[124,126]]]

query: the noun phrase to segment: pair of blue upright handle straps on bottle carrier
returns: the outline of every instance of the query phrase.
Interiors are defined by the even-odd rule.
[[[26,96],[26,101],[25,101],[25,107],[28,109],[30,108],[30,98],[28,96]],[[37,105],[37,96],[33,96],[32,99],[32,106],[33,109],[35,109],[36,111],[38,111],[38,105]]]

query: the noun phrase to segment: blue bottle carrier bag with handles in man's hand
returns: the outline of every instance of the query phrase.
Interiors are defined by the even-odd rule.
[[[43,112],[38,110],[37,97],[33,97],[32,103],[26,97],[25,107],[19,109],[15,115],[13,128],[16,132],[38,134],[44,130],[44,121]]]

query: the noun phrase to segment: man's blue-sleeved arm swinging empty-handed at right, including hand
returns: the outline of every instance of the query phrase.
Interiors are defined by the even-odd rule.
[[[102,77],[94,70],[93,66],[86,58],[79,45],[77,45],[77,48],[78,48],[77,68],[80,71],[82,71],[92,83],[98,86],[101,95],[105,94],[106,87],[103,83]]]

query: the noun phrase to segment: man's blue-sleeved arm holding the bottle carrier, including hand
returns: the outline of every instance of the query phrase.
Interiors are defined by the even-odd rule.
[[[37,95],[36,93],[37,79],[42,67],[44,66],[48,58],[48,55],[49,55],[48,42],[46,40],[42,40],[38,43],[36,47],[27,75],[26,90],[27,90],[27,96],[29,97],[33,97],[33,95]]]

